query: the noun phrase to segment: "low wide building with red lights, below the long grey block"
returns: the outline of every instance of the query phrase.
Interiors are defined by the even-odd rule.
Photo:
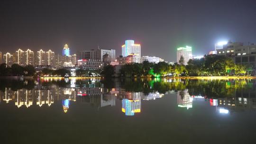
[[[88,70],[97,70],[97,69],[103,69],[105,66],[104,62],[101,62],[99,60],[78,60],[77,66],[82,69],[88,69]]]

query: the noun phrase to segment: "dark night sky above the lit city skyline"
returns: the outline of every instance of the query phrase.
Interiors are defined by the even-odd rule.
[[[208,54],[223,40],[256,43],[256,0],[5,0],[0,51],[116,49],[126,39],[142,55],[176,60],[176,48]]]

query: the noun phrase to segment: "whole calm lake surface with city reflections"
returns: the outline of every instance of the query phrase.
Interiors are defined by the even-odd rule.
[[[0,79],[0,144],[254,144],[256,80]]]

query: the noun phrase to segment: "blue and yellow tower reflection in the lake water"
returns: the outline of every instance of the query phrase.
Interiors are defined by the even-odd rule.
[[[125,113],[126,116],[134,116],[135,113],[139,113],[141,108],[141,100],[129,100],[122,99],[122,112]]]

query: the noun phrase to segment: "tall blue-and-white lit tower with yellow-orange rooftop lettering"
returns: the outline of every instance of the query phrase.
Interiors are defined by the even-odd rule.
[[[122,56],[125,57],[132,53],[141,56],[140,44],[134,44],[134,40],[126,40],[125,45],[122,45]]]

